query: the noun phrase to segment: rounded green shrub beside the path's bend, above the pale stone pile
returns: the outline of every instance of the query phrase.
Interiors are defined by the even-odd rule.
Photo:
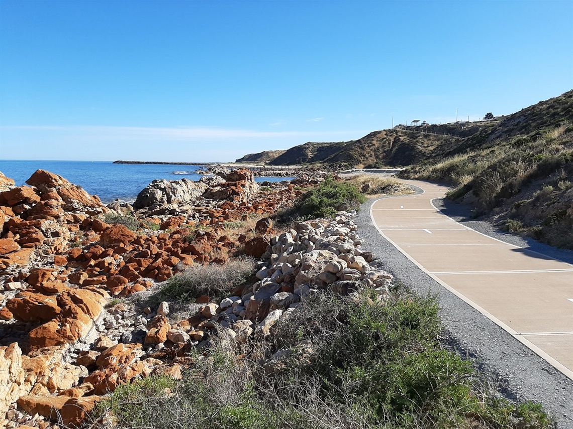
[[[315,189],[305,192],[283,217],[332,217],[342,210],[358,211],[363,202],[366,202],[366,197],[356,186],[327,177]]]

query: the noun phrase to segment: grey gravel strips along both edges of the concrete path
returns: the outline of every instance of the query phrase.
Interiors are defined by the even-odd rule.
[[[374,201],[364,203],[356,216],[364,250],[378,255],[383,269],[395,280],[422,295],[437,297],[446,329],[446,343],[462,356],[474,359],[478,370],[501,394],[511,400],[539,402],[556,420],[556,427],[573,429],[573,380],[442,287],[384,239],[370,219],[370,206]],[[434,205],[454,220],[485,235],[567,262],[573,261],[573,252],[503,233],[485,221],[469,219],[470,210],[465,206],[445,200],[434,200]]]

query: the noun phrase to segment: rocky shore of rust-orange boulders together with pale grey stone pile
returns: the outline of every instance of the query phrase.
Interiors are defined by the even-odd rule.
[[[269,182],[261,192],[249,170],[221,168],[198,182],[156,180],[132,207],[105,206],[45,170],[30,186],[0,176],[0,426],[77,426],[121,383],[179,378],[186,349],[213,330],[236,341],[266,335],[316,287],[348,293],[367,281],[384,293],[391,276],[360,251],[352,216],[281,234],[264,217],[317,182]],[[114,216],[144,228],[105,221]],[[258,218],[252,233],[226,228]],[[258,281],[222,301],[202,297],[187,319],[169,319],[167,303],[120,302],[193,265],[245,254],[261,261]]]

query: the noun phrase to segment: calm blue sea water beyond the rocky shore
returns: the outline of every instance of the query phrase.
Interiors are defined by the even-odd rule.
[[[111,161],[19,161],[0,160],[0,171],[13,178],[16,185],[25,185],[37,169],[60,174],[80,185],[101,201],[132,201],[138,193],[155,179],[199,180],[194,171],[200,165],[113,164]],[[257,182],[289,180],[285,177],[256,177]]]

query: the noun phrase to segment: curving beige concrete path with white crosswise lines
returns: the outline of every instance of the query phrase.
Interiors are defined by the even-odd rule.
[[[573,379],[573,265],[482,235],[431,203],[446,186],[371,206],[380,234],[433,279]]]

